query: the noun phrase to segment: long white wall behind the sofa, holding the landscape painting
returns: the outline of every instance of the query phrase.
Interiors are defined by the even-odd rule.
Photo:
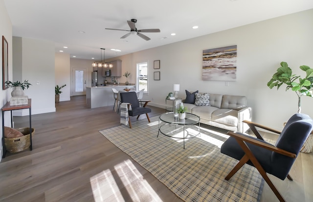
[[[252,120],[281,130],[283,122],[297,112],[295,92],[270,90],[267,83],[286,61],[294,73],[303,74],[299,66],[313,67],[313,9],[263,22],[257,22],[214,34],[159,46],[121,57],[122,73],[130,71],[130,83],[135,82],[136,63],[148,61],[149,95],[152,105],[164,106],[165,97],[180,84],[179,97],[185,91],[246,95],[253,108]],[[202,50],[237,45],[237,79],[225,86],[224,81],[202,81]],[[160,60],[160,69],[153,61]],[[153,80],[154,71],[161,71],[160,81]],[[126,81],[126,78],[123,78]],[[121,82],[123,80],[121,79]],[[313,117],[313,98],[302,98],[302,112]]]

